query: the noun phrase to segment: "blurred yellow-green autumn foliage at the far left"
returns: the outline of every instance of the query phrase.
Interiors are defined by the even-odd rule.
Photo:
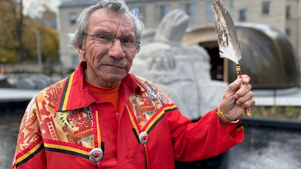
[[[40,33],[40,47],[42,62],[59,61],[58,32],[38,20],[28,16],[23,18],[21,42],[19,48],[17,36],[17,19],[20,19],[16,0],[0,0],[0,63],[15,63],[17,61],[37,61],[37,44],[34,29]],[[49,19],[55,17],[55,13],[47,10],[45,15]],[[22,51],[20,58],[19,51]]]

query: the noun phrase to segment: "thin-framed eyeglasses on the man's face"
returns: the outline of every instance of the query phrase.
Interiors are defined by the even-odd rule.
[[[119,39],[122,49],[127,50],[127,51],[136,51],[140,44],[139,41],[137,41],[135,38],[131,38],[131,37],[122,37],[121,36],[120,38],[117,38],[116,35],[105,34],[105,33],[99,33],[99,34],[95,34],[95,35],[91,35],[88,33],[84,33],[84,34],[91,36],[93,38],[95,46],[98,46],[98,47],[109,48],[114,44],[115,39]]]

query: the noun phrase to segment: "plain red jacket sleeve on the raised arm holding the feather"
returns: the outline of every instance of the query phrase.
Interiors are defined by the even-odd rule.
[[[177,161],[196,161],[224,153],[243,140],[241,121],[222,128],[216,109],[192,123],[179,110],[167,113],[174,158]]]

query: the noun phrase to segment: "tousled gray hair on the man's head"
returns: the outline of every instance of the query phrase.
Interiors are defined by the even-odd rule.
[[[85,8],[77,18],[78,27],[74,33],[69,34],[71,46],[74,46],[75,48],[77,46],[84,46],[86,37],[84,33],[86,31],[89,17],[94,11],[101,8],[106,8],[107,10],[112,10],[116,13],[125,13],[129,15],[134,23],[135,38],[137,41],[141,40],[142,32],[144,30],[144,24],[142,21],[142,16],[136,10],[131,12],[124,0],[100,0],[100,2],[98,2],[97,4]],[[137,48],[137,52],[139,51],[139,49],[140,46]]]

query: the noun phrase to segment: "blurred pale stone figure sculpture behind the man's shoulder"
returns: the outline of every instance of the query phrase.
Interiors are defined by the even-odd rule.
[[[211,80],[210,56],[203,47],[182,45],[189,19],[179,9],[167,13],[152,41],[142,44],[131,72],[155,82],[186,117],[196,120],[220,102],[228,84]]]

